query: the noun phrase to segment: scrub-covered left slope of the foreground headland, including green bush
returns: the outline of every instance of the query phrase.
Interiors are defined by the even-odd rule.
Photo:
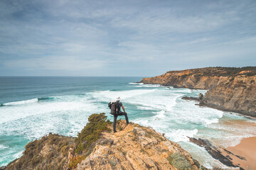
[[[100,138],[102,131],[110,130],[105,113],[92,114],[85,128],[78,137],[65,137],[52,134],[43,136],[41,140],[29,142],[23,156],[11,162],[8,169],[75,169],[92,152],[94,143]],[[70,156],[68,156],[70,154]]]

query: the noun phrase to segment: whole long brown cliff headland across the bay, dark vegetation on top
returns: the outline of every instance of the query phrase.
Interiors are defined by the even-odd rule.
[[[256,67],[208,67],[166,72],[140,83],[205,89],[201,105],[256,117]]]

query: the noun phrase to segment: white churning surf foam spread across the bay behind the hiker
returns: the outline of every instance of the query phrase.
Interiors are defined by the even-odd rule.
[[[223,111],[198,107],[194,105],[195,102],[181,100],[184,95],[198,96],[203,91],[158,88],[157,85],[148,84],[131,85],[134,86],[134,90],[86,92],[80,96],[55,97],[49,102],[28,100],[29,102],[19,101],[18,104],[14,102],[10,107],[0,107],[0,135],[22,135],[29,140],[40,138],[48,132],[76,136],[86,125],[89,115],[109,113],[110,109],[105,102],[117,96],[121,97],[128,112],[135,108],[129,115],[131,122],[151,126],[157,132],[164,132],[166,137],[175,142],[188,144],[188,137],[214,136],[216,140],[230,145],[230,141],[235,140],[237,143],[242,139],[240,137],[253,135],[251,131],[255,130],[250,131],[241,127],[229,129],[228,126],[221,124],[220,120],[225,114]],[[139,113],[143,113],[143,116]],[[231,120],[238,118],[230,115]],[[238,131],[245,135],[234,135]],[[198,150],[199,154],[206,152],[196,147],[193,149]]]

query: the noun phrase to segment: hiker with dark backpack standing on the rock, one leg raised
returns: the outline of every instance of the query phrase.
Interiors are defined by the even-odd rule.
[[[120,102],[120,97],[118,97],[114,101],[111,101],[109,103],[109,107],[111,109],[111,114],[114,115],[113,130],[114,130],[114,132],[117,132],[117,130],[116,130],[117,116],[124,115],[127,125],[129,124],[128,116],[127,116],[127,113],[125,112],[122,102]],[[124,112],[121,111],[121,109],[120,109],[121,107]]]

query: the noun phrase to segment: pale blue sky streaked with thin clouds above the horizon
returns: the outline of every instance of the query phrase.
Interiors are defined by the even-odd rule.
[[[256,66],[256,1],[1,0],[0,76]]]

